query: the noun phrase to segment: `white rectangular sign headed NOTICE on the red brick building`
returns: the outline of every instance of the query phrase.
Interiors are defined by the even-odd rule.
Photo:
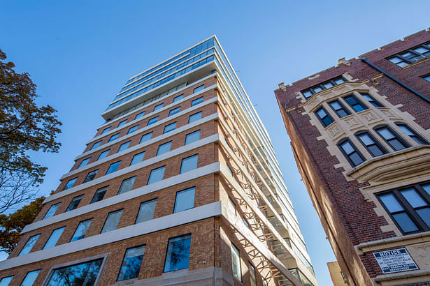
[[[393,273],[418,269],[406,248],[373,253],[383,273]]]

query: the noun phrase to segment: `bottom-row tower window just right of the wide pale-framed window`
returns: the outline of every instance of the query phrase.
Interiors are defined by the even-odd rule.
[[[137,278],[141,270],[145,246],[127,248],[122,260],[118,281]]]

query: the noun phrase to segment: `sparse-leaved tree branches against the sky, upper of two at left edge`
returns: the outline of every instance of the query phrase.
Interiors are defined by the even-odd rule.
[[[57,110],[35,103],[36,84],[28,73],[15,73],[0,50],[0,213],[34,199],[46,167],[27,151],[58,152],[61,130]]]

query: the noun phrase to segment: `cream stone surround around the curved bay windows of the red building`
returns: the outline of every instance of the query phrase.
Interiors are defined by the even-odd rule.
[[[343,77],[348,80],[352,80],[350,75],[344,74]],[[392,148],[382,140],[380,136],[375,133],[373,130],[374,127],[378,125],[387,125],[396,133],[399,133],[402,138],[410,146],[416,146],[416,142],[414,142],[408,135],[405,135],[402,130],[400,130],[399,126],[396,126],[396,123],[405,123],[410,128],[412,128],[418,135],[422,136],[424,139],[429,140],[430,130],[424,130],[421,126],[414,122],[415,118],[410,115],[408,112],[401,112],[399,110],[403,105],[392,105],[386,100],[386,96],[380,96],[378,94],[378,89],[375,89],[373,86],[367,86],[366,83],[368,80],[364,82],[344,82],[343,84],[339,84],[337,86],[333,86],[329,89],[324,89],[324,91],[320,91],[319,93],[315,93],[312,98],[309,98],[308,101],[304,100],[304,96],[301,93],[296,93],[297,97],[302,100],[302,104],[299,107],[303,107],[306,112],[302,112],[302,115],[310,116],[310,123],[317,127],[320,130],[322,136],[317,137],[317,140],[325,140],[329,146],[327,149],[331,153],[332,156],[336,156],[339,160],[339,164],[336,164],[334,167],[344,167],[345,171],[343,174],[345,175],[347,181],[351,181],[352,178],[347,176],[347,172],[351,170],[351,165],[348,163],[347,159],[340,150],[338,150],[336,144],[341,140],[349,137],[351,142],[357,146],[357,149],[361,154],[364,155],[366,160],[373,158],[371,153],[368,152],[365,146],[359,142],[358,138],[354,136],[355,133],[360,131],[368,131],[375,137],[378,142],[385,147],[387,150],[392,150]],[[374,107],[371,103],[368,103],[365,98],[361,96],[361,93],[368,93],[370,96],[378,100],[385,107]],[[343,118],[338,118],[335,112],[329,107],[328,103],[335,98],[340,98],[343,96],[347,96],[348,94],[353,94],[356,98],[358,98],[361,102],[366,104],[368,107],[367,110],[363,110],[361,112],[354,112],[352,114],[345,116]],[[334,123],[331,123],[329,126],[324,128],[320,123],[320,120],[317,118],[316,114],[314,114],[315,110],[317,110],[320,106],[325,107],[327,112],[334,117]],[[349,105],[347,105],[350,108]],[[358,116],[357,116],[358,115]],[[363,123],[363,120],[357,119],[357,117],[364,117],[370,119],[370,122]],[[379,119],[378,119],[379,117]],[[342,128],[343,127],[343,128]],[[328,132],[327,132],[328,131]],[[327,134],[329,133],[329,134]]]

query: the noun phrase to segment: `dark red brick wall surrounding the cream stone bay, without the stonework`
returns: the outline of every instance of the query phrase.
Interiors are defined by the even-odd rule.
[[[421,78],[422,75],[426,75],[430,71],[430,59],[408,68],[400,68],[386,59],[429,40],[430,32],[420,31],[408,36],[404,41],[398,40],[382,47],[381,50],[368,52],[363,57],[430,99],[430,83]],[[384,218],[376,215],[373,211],[375,208],[373,202],[366,201],[359,190],[360,187],[367,186],[367,184],[347,181],[342,174],[344,170],[334,168],[334,165],[339,163],[337,158],[331,156],[327,151],[327,144],[324,140],[317,140],[320,132],[310,124],[310,116],[302,114],[304,110],[299,106],[301,101],[296,98],[296,91],[302,91],[343,73],[349,73],[353,79],[359,81],[368,80],[366,84],[378,89],[380,95],[387,96],[387,100],[393,105],[403,105],[400,110],[412,114],[416,118],[415,122],[424,129],[430,128],[430,105],[386,76],[374,80],[373,77],[380,75],[380,72],[359,59],[351,59],[348,65],[340,64],[323,70],[318,73],[318,77],[310,76],[314,78],[313,80],[306,77],[294,82],[292,85],[286,86],[286,91],[280,89],[275,91],[287,132],[292,140],[296,161],[298,165],[299,163],[302,165],[299,170],[305,181],[306,176],[308,176],[309,181],[306,186],[310,192],[310,197],[329,236],[336,257],[345,270],[345,263],[350,264],[351,269],[355,259],[355,255],[352,257],[348,255],[354,249],[352,245],[392,237],[395,234],[380,230],[380,227],[387,225],[387,222]],[[286,110],[289,111],[286,112]],[[333,209],[333,211],[324,209],[323,203],[328,203],[329,208],[327,209]],[[349,237],[352,245],[343,245],[342,240],[345,239],[345,236]],[[381,273],[373,255],[366,255],[365,253],[360,258],[370,277],[375,277]],[[359,279],[359,273],[356,274],[357,279]]]

